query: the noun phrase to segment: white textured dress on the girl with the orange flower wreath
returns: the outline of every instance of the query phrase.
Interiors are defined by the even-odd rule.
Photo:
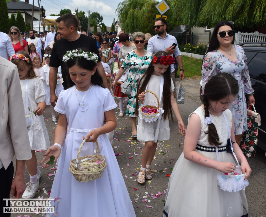
[[[50,147],[50,141],[47,129],[45,127],[43,115],[34,115],[32,111],[38,107],[39,102],[45,102],[45,90],[43,86],[43,82],[40,78],[32,78],[28,79],[28,107],[31,111],[28,110],[26,107],[26,80],[20,80],[21,90],[22,90],[22,97],[23,97],[23,104],[25,115],[31,114],[35,124],[28,127],[28,135],[30,139],[31,150],[36,149],[47,149]]]

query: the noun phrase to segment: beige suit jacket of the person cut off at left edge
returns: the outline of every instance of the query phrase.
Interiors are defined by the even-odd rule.
[[[5,169],[14,155],[31,159],[18,68],[0,57],[0,160]]]

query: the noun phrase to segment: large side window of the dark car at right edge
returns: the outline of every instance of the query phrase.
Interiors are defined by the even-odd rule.
[[[248,52],[246,52],[247,55]],[[257,53],[248,64],[250,78],[266,83],[266,53]]]

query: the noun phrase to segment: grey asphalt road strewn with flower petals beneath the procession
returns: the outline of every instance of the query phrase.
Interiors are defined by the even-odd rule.
[[[191,112],[196,110],[201,105],[199,98],[199,82],[200,77],[186,78],[184,80],[185,85],[185,104],[179,105],[182,119],[187,125],[188,116]],[[164,202],[167,183],[171,174],[174,163],[183,151],[182,135],[178,134],[177,121],[170,122],[170,140],[158,142],[157,152],[155,159],[152,162],[153,178],[143,185],[136,182],[137,171],[141,165],[141,154],[144,144],[135,140],[131,140],[131,124],[128,116],[120,118],[119,110],[116,111],[117,128],[115,129],[115,143],[114,151],[117,156],[117,160],[120,166],[122,175],[128,193],[130,195],[132,204],[136,211],[137,217],[146,216],[163,216]],[[47,106],[44,114],[45,124],[50,137],[50,142],[53,142],[54,131],[56,123],[51,121],[51,112],[49,106]],[[36,152],[38,162],[43,158],[43,152]],[[257,149],[256,157],[248,159],[250,163],[252,173],[248,181],[249,186],[246,188],[246,196],[248,200],[248,213],[251,217],[266,216],[266,158],[265,152],[261,149]],[[15,159],[13,159],[15,165]],[[48,198],[48,191],[51,190],[53,183],[53,174],[56,170],[52,170],[52,167],[42,169],[42,176],[40,178],[40,188],[37,192],[38,196]],[[189,171],[188,171],[189,172]],[[49,175],[48,175],[49,174]],[[52,175],[51,175],[52,174]],[[26,182],[29,181],[29,175],[26,169],[25,172]],[[127,177],[127,178],[126,178]],[[153,194],[153,195],[151,195]],[[158,197],[156,196],[158,194]],[[108,195],[106,195],[108,196]],[[109,195],[110,196],[110,195]],[[147,201],[144,201],[147,200]],[[146,207],[151,206],[151,207]],[[19,216],[21,214],[12,214],[11,216]],[[24,214],[29,215],[29,214]],[[23,216],[23,215],[22,215]],[[40,215],[30,215],[40,216]]]

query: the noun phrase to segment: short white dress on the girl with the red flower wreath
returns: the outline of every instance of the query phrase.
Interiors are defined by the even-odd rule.
[[[151,75],[151,78],[147,85],[147,90],[155,93],[158,99],[160,99],[161,76],[162,75],[160,76]],[[140,78],[141,77],[142,75],[140,75]],[[140,86],[141,84],[138,84],[138,87]],[[172,79],[171,79],[171,90],[172,92],[174,91],[174,83]],[[158,106],[158,102],[157,102],[156,97],[152,93],[146,93],[144,101],[143,101],[143,105]],[[162,100],[160,102],[160,107],[163,108]],[[138,140],[144,141],[144,142],[154,141],[155,130],[157,128],[157,123],[158,123],[157,121],[153,121],[149,123],[149,122],[145,122],[145,120],[142,120],[139,117],[138,126],[137,126]],[[159,126],[159,135],[158,135],[157,140],[162,141],[162,140],[169,140],[169,139],[170,139],[169,119],[161,118],[160,126]]]

